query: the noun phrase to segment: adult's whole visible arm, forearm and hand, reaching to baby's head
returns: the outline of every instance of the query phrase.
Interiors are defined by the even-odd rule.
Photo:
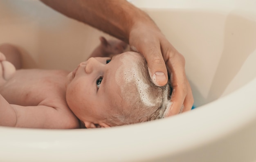
[[[173,48],[150,17],[126,0],[41,0],[56,11],[129,43],[148,62],[151,79],[158,86],[167,83],[171,72],[173,102],[168,116],[191,109],[193,96],[184,70],[184,57]],[[166,65],[165,65],[166,63]]]

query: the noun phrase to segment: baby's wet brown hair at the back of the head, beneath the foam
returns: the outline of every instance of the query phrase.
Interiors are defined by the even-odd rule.
[[[138,54],[139,55],[139,54]],[[142,56],[141,56],[142,57]],[[116,108],[117,113],[111,114],[109,118],[107,118],[106,123],[110,126],[118,126],[118,125],[128,125],[134,123],[142,123],[150,120],[156,120],[160,118],[164,118],[166,110],[168,111],[171,101],[171,83],[168,83],[162,87],[158,87],[153,83],[150,79],[148,73],[148,66],[146,59],[142,57],[142,59],[137,59],[137,66],[140,79],[148,86],[147,94],[150,99],[150,103],[154,103],[153,105],[146,105],[141,101],[139,90],[137,89],[136,83],[132,82],[129,85],[124,85],[125,90],[122,92],[123,102],[126,102],[128,108],[124,108],[120,105],[113,104]],[[169,80],[169,79],[168,79]],[[129,101],[125,101],[124,98],[132,99]]]

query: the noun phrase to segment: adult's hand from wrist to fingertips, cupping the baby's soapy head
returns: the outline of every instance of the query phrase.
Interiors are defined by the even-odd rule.
[[[168,81],[168,71],[171,72],[172,106],[167,116],[191,110],[193,95],[185,74],[184,57],[168,42],[153,23],[135,24],[130,31],[129,44],[132,50],[141,53],[148,63],[150,78],[157,86],[163,86]]]

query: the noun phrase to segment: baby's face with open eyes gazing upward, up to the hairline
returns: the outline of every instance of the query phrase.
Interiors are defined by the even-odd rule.
[[[66,99],[74,114],[82,121],[99,123],[115,112],[115,105],[126,107],[121,87],[127,84],[126,70],[139,54],[126,52],[109,57],[92,57],[68,75]],[[126,70],[124,70],[126,69]]]

